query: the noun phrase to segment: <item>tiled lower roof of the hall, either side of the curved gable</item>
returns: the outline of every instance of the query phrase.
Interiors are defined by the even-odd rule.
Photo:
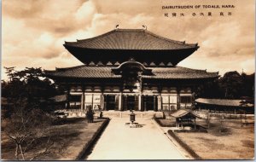
[[[115,75],[115,67],[69,67],[56,68],[55,71],[44,71],[49,78],[121,78]],[[187,79],[187,78],[218,78],[218,72],[207,72],[186,67],[151,67],[150,75],[143,75],[143,78],[166,78],[166,79]]]

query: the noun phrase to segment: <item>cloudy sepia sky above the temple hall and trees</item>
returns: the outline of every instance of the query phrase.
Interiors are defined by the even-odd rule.
[[[163,9],[183,5],[193,9]],[[54,70],[82,65],[63,47],[64,41],[96,37],[116,25],[132,29],[145,25],[162,37],[198,43],[200,49],[177,66],[221,75],[250,74],[255,67],[254,14],[254,0],[3,0],[2,79],[7,79],[3,67]]]

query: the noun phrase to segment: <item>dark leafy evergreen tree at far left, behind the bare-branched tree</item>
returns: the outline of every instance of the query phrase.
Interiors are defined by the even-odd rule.
[[[49,111],[47,101],[56,94],[55,84],[49,78],[44,78],[44,72],[40,67],[26,67],[21,71],[15,71],[15,67],[4,68],[9,81],[2,82],[2,96],[8,98],[9,105],[17,100],[26,99],[28,104],[36,104],[39,108]]]

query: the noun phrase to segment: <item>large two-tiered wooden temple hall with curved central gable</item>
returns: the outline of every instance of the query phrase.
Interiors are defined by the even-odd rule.
[[[195,90],[218,72],[178,67],[197,43],[160,37],[146,29],[115,29],[65,42],[83,66],[45,71],[67,90],[67,109],[172,111],[194,107]]]

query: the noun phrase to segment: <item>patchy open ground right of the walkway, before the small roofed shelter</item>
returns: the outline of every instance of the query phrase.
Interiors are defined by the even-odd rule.
[[[241,127],[239,119],[225,119],[220,132],[219,120],[211,121],[208,133],[178,132],[202,159],[253,159],[254,124]]]

